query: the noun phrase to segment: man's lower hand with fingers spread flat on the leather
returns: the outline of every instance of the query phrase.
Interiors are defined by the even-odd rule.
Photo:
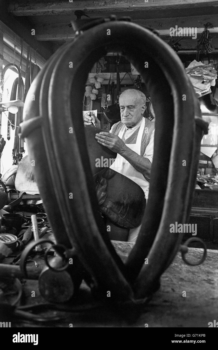
[[[110,134],[109,132],[96,134],[96,140],[98,140],[99,144],[111,149],[115,153],[122,153],[127,148],[119,136]]]

